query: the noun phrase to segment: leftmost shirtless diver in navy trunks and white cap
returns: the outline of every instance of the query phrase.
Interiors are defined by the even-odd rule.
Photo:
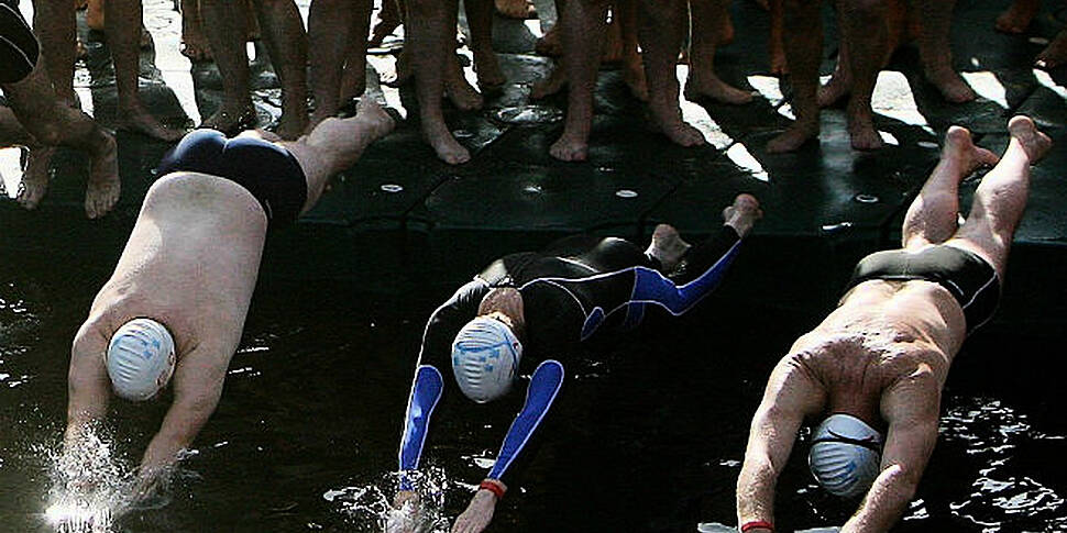
[[[140,467],[141,489],[215,411],[241,340],[267,230],[310,209],[393,120],[369,99],[296,142],[249,132],[186,136],[161,164],[111,279],[74,341],[65,447],[105,418],[113,390],[142,401],[174,376],[174,400]]]

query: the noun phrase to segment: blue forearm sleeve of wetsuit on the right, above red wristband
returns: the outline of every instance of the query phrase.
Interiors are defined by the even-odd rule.
[[[532,441],[556,403],[563,386],[563,365],[556,359],[547,359],[534,370],[526,390],[526,402],[507,430],[504,444],[496,455],[496,464],[487,476],[490,479],[498,479],[510,486],[516,482],[521,470],[525,470],[536,447]]]

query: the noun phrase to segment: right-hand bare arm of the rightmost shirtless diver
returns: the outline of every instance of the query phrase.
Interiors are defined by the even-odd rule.
[[[889,531],[915,496],[919,480],[937,441],[941,385],[919,375],[887,392],[882,413],[889,434],[881,474],[842,533]]]

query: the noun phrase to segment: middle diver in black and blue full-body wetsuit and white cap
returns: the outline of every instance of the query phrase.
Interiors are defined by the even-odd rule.
[[[569,352],[602,332],[637,326],[652,309],[682,314],[718,286],[761,212],[755,198],[739,195],[723,215],[725,224],[697,246],[664,224],[646,251],[622,238],[578,236],[541,253],[508,255],[433,312],[405,415],[402,473],[419,468],[446,389],[484,403],[503,397],[517,375],[531,374],[496,464],[453,531],[485,529],[497,500],[517,482],[530,438],[565,388]],[[398,508],[416,498],[414,489],[405,475]]]

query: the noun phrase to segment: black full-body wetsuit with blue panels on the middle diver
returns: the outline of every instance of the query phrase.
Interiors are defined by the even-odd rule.
[[[561,360],[598,332],[637,326],[649,307],[684,313],[718,286],[739,245],[737,232],[723,226],[707,242],[690,248],[670,276],[660,273],[656,259],[622,238],[570,237],[544,252],[494,262],[438,308],[426,325],[405,417],[400,470],[418,468],[438,401],[444,389],[459,390],[452,377],[451,344],[493,288],[514,287],[522,296],[527,338],[520,374],[532,373],[526,403],[487,476],[512,485],[530,455],[528,442],[563,385]],[[410,488],[406,479],[404,485]]]

